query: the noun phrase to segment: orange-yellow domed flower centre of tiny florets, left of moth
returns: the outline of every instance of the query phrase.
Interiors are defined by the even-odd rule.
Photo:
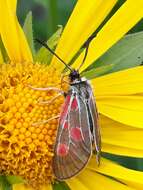
[[[11,63],[0,67],[0,173],[21,176],[39,189],[54,181],[56,116],[64,97],[54,99],[54,90],[36,88],[66,91],[68,86],[61,85],[61,74],[51,66]]]

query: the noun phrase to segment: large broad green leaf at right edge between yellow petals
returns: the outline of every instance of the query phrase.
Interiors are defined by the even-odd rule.
[[[114,64],[109,71],[115,72],[143,63],[143,32],[129,34],[111,47],[91,68]]]

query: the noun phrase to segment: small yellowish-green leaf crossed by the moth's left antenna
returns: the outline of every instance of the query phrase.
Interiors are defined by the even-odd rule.
[[[62,30],[63,30],[63,27],[59,26],[58,30],[47,41],[47,44],[51,49],[55,49],[56,45],[58,44]],[[35,61],[49,64],[52,56],[53,55],[45,47],[41,47],[35,56]]]

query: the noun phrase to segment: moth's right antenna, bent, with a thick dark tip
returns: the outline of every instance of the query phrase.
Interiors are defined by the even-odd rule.
[[[89,50],[89,45],[90,45],[90,42],[96,37],[96,33],[93,33],[88,39],[87,41],[83,44],[83,48],[86,48],[85,50],[85,54],[84,54],[84,57],[83,57],[83,60],[82,60],[82,63],[80,64],[79,68],[78,68],[78,71],[80,70],[80,68],[82,67],[82,65],[84,64],[86,58],[87,58],[87,54],[88,54],[88,50]]]

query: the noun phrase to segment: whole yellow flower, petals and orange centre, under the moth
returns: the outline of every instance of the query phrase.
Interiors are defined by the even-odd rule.
[[[56,53],[69,62],[116,2],[92,0],[87,3],[79,0]],[[56,58],[50,66],[33,64],[31,51],[16,17],[16,5],[16,0],[0,0],[0,35],[10,59],[8,64],[4,64],[0,52],[0,170],[2,174],[19,175],[27,180],[28,184],[14,184],[14,190],[52,189],[51,183],[55,179],[51,162],[58,121],[54,119],[45,124],[41,121],[58,115],[64,100],[60,97],[54,103],[44,105],[41,102],[50,101],[55,93],[34,91],[29,85],[60,87],[64,67]],[[92,41],[82,71],[142,18],[142,6],[142,0],[136,0],[136,5],[133,0],[127,0],[121,6]],[[84,52],[75,61],[75,68],[83,55]],[[92,80],[101,114],[103,152],[136,157],[143,155],[142,72],[142,67],[136,67]],[[64,90],[67,88],[63,85]],[[92,158],[80,175],[66,183],[74,190],[94,187],[99,190],[135,190],[142,189],[142,178],[142,172],[104,158],[97,167]]]

